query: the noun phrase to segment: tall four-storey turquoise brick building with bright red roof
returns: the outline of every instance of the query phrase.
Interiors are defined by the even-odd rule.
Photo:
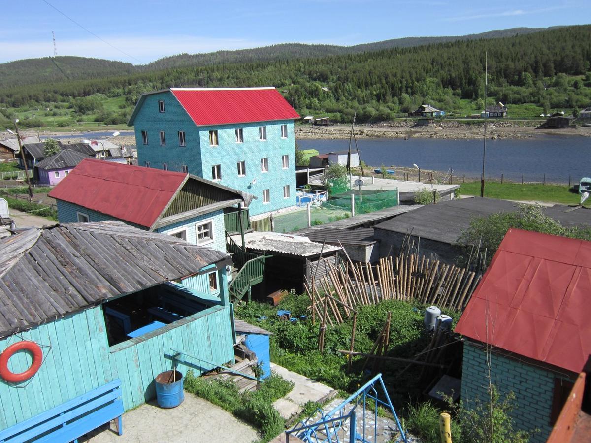
[[[296,205],[297,118],[274,87],[171,88],[142,95],[129,125],[139,165],[252,194],[254,216]]]

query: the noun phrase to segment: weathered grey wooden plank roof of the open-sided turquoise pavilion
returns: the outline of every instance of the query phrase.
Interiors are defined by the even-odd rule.
[[[27,230],[0,240],[0,337],[225,259],[121,222]]]

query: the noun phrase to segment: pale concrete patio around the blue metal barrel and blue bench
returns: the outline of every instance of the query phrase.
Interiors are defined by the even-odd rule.
[[[172,409],[145,403],[123,415],[123,435],[112,425],[79,441],[92,443],[124,442],[234,442],[251,443],[259,436],[255,429],[239,421],[219,406],[185,392],[184,402]]]

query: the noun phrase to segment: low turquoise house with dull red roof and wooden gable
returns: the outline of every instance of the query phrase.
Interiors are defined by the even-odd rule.
[[[224,210],[252,196],[182,172],[85,159],[49,193],[60,223],[118,220],[226,251]],[[238,210],[238,209],[236,209]]]

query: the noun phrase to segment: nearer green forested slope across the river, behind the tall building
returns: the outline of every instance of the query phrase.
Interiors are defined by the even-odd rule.
[[[590,41],[591,25],[580,25],[495,40],[40,83],[0,89],[0,113],[8,118],[11,112],[21,112],[17,108],[48,108],[47,112],[65,112],[54,115],[70,119],[98,115],[95,121],[125,122],[144,92],[172,86],[272,85],[300,115],[322,113],[350,121],[356,112],[361,121],[375,121],[430,103],[463,116],[482,110],[488,53],[489,100],[499,100],[510,109],[535,105],[528,115],[537,117],[541,110],[591,104]],[[100,103],[111,99],[118,99],[116,108],[100,113]]]

